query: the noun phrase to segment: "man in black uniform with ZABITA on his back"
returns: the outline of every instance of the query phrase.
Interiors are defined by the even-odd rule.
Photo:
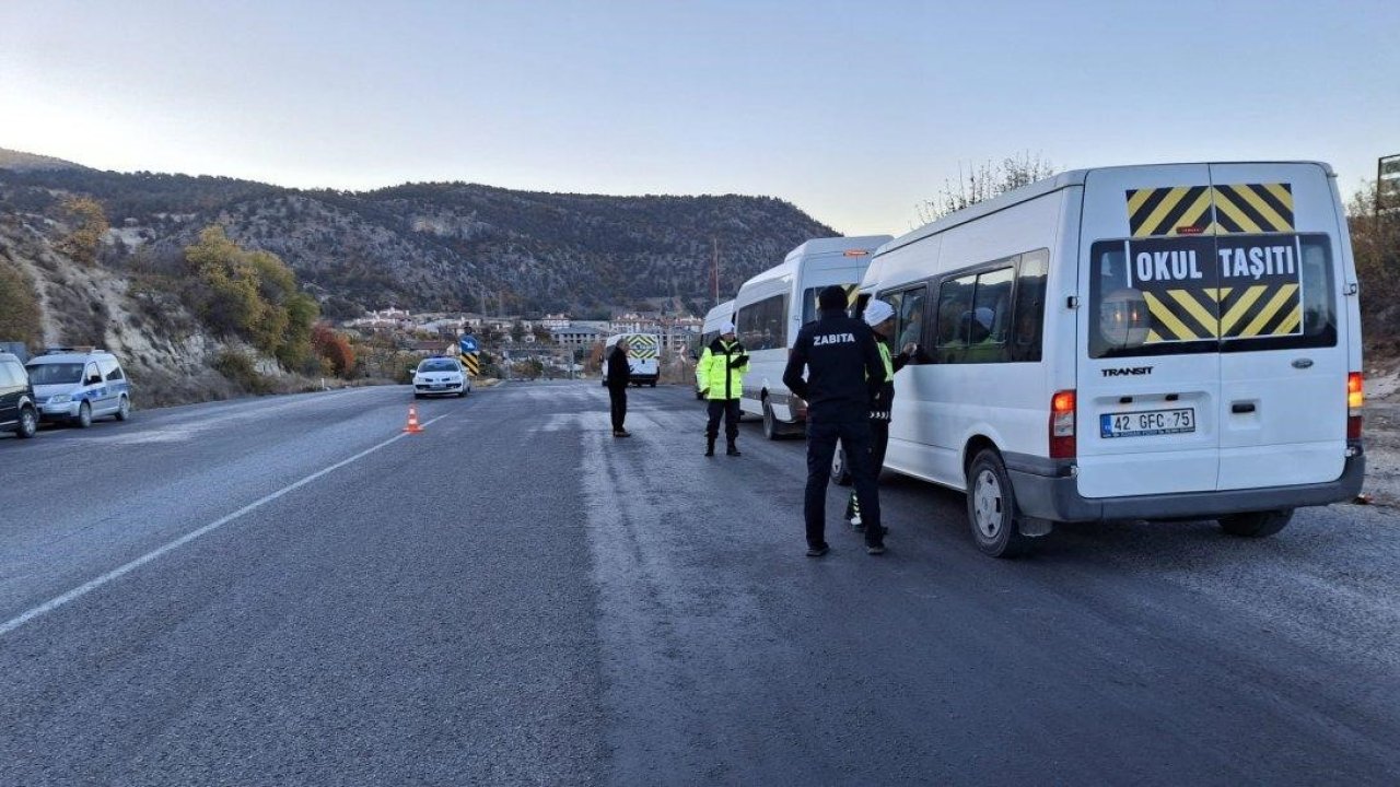
[[[871,472],[871,402],[885,384],[885,364],[875,346],[875,333],[862,321],[846,314],[846,290],[827,287],[818,295],[820,318],[802,326],[788,356],[783,382],[806,399],[806,553],[826,555],[826,485],[832,478],[836,441],[855,479],[865,522],[865,550],[885,552],[885,528],[879,520],[875,473]],[[802,378],[806,367],[808,377]]]

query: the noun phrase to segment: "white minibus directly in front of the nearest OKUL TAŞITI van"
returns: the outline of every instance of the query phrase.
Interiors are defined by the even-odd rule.
[[[854,293],[871,253],[889,235],[815,238],[788,252],[777,267],[749,279],[734,298],[739,342],[749,351],[743,413],[763,417],[763,434],[777,440],[801,434],[806,405],[783,385],[788,349],[802,325],[818,316],[816,295],[841,284]]]

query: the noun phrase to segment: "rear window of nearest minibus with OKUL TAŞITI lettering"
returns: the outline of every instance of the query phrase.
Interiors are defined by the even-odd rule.
[[[1333,346],[1329,249],[1291,234],[1099,241],[1089,357]]]

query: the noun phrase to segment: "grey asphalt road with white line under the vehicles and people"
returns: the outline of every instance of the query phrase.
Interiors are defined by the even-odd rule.
[[[1396,784],[1400,521],[1018,562],[679,388],[403,388],[0,437],[0,784]]]

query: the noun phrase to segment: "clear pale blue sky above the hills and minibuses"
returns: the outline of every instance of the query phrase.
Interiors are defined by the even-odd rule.
[[[743,193],[902,234],[959,172],[1400,154],[1394,0],[0,0],[0,147],[295,188]]]

